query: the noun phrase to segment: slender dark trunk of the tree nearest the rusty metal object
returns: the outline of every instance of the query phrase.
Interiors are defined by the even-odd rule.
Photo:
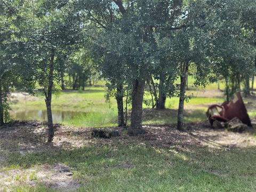
[[[181,68],[182,73],[180,76],[180,101],[179,101],[178,125],[177,125],[177,129],[180,131],[184,130],[183,129],[183,111],[184,111],[188,66],[189,66],[189,62],[183,63],[183,66]]]

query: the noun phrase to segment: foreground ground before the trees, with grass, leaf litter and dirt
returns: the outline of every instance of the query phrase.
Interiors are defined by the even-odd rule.
[[[211,130],[201,123],[190,124],[193,129],[187,132],[178,132],[173,126],[145,126],[147,133],[142,137],[129,137],[123,130],[118,138],[93,139],[90,129],[63,126],[49,146],[38,137],[40,132],[35,132],[41,126],[16,124],[9,126],[11,131],[2,130],[0,142],[7,145],[2,151],[6,154],[0,171],[2,189],[256,190],[256,138],[251,132]],[[14,130],[23,139],[15,139]],[[8,142],[7,138],[13,140]],[[33,148],[29,148],[31,143]],[[56,171],[56,166],[67,166],[71,176]]]

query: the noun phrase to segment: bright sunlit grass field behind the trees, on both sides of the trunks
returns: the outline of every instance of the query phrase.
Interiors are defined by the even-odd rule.
[[[222,103],[225,99],[223,97],[210,97],[208,95],[202,96],[202,87],[192,87],[194,78],[189,77],[190,90],[188,95],[193,95],[191,99],[185,103],[185,122],[195,122],[205,120],[205,111],[207,106],[213,103]],[[192,82],[192,83],[191,83]],[[221,83],[221,86],[223,83]],[[224,86],[224,85],[223,85]],[[217,83],[208,85],[205,92],[217,91]],[[103,127],[113,126],[117,122],[117,107],[114,98],[109,102],[105,99],[105,88],[101,86],[86,87],[85,91],[63,91],[55,95],[52,99],[52,110],[55,111],[76,111],[78,115],[73,118],[61,122],[62,124],[83,126],[83,127]],[[220,93],[221,95],[221,93]],[[145,99],[150,99],[150,95],[146,94]],[[247,101],[247,100],[246,100]],[[250,100],[251,101],[251,100]],[[179,98],[173,97],[166,100],[166,108],[177,110],[179,105]],[[143,108],[148,108],[143,104]],[[12,103],[13,111],[26,110],[45,110],[44,97],[42,93],[37,93],[37,97],[33,100],[23,99],[19,102]],[[131,109],[131,106],[129,106]],[[249,114],[255,117],[255,109],[249,110]],[[177,121],[177,113],[172,113],[170,116],[161,115],[157,118],[143,119],[143,124],[170,124]],[[58,122],[59,123],[59,122]]]

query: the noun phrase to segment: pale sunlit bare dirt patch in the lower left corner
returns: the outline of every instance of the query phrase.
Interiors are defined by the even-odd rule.
[[[72,175],[72,168],[63,164],[44,164],[29,169],[0,171],[0,187],[11,189],[20,185],[36,186],[42,183],[53,189],[72,191],[79,187],[78,182],[71,177]]]

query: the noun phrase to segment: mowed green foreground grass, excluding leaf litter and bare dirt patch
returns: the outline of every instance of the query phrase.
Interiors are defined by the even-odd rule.
[[[27,169],[37,164],[76,167],[76,191],[255,191],[256,148],[189,151],[115,142],[55,153],[11,154],[8,165]],[[58,191],[19,186],[15,191]]]

